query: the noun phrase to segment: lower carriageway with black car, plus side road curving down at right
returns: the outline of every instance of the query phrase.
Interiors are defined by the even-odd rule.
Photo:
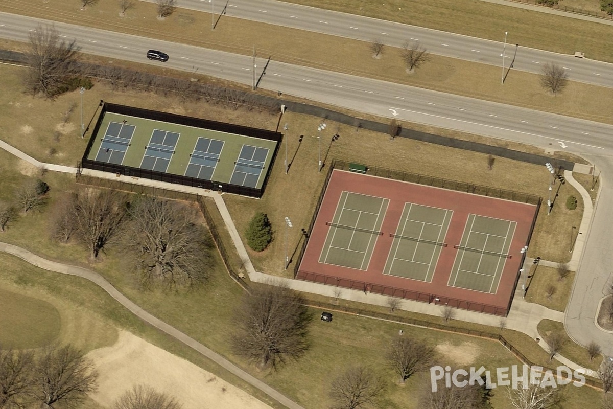
[[[51,24],[51,21],[0,13],[0,37],[25,41],[39,22]],[[162,64],[151,63],[145,58],[149,48],[161,48],[172,50],[170,60],[164,63],[166,67],[189,72],[198,69],[200,74],[252,83],[254,67],[249,56],[64,23],[53,24],[66,39],[77,39],[86,53]],[[264,66],[264,59],[256,60],[256,77],[262,75]],[[599,331],[593,322],[613,265],[613,243],[609,234],[613,207],[608,205],[613,200],[613,190],[607,186],[613,177],[613,126],[275,61],[268,65],[259,86],[359,112],[396,116],[399,120],[514,140],[544,149],[567,150],[595,163],[602,171],[603,188],[592,229],[589,234],[584,233],[588,235],[587,248],[565,324],[577,342],[587,345],[595,340],[605,353],[613,355],[613,335]]]

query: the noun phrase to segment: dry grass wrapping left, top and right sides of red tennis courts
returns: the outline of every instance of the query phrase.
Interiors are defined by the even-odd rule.
[[[286,138],[279,150],[279,156],[273,166],[264,197],[254,201],[247,197],[224,195],[232,220],[243,235],[249,220],[256,212],[268,214],[275,240],[261,253],[250,251],[249,255],[257,270],[267,273],[283,274],[284,261],[284,217],[292,220],[294,227],[289,231],[289,254],[297,256],[296,249],[303,240],[300,229],[308,229],[313,215],[314,205],[321,192],[324,166],[318,174],[318,139],[317,126],[321,118],[308,117],[287,112],[283,121],[288,123]],[[337,123],[328,123],[322,136],[322,158],[327,156],[327,163],[332,158],[357,161],[373,166],[389,167],[435,177],[452,178],[462,182],[479,181],[481,185],[511,189],[525,193],[544,196],[548,193],[549,174],[544,166],[496,158],[492,170],[487,169],[487,155],[440,147],[429,143],[397,138],[390,140],[389,135],[377,134]],[[330,137],[338,133],[340,138],[330,142]],[[303,142],[299,143],[299,136]],[[283,166],[284,144],[287,143],[288,157],[291,162],[286,175]],[[377,152],[373,157],[373,152]],[[326,155],[327,153],[327,155]],[[293,158],[293,159],[292,159]],[[446,165],[439,166],[440,158],[445,158]],[[518,175],[522,175],[518,177]],[[554,186],[554,193],[559,183]],[[554,210],[547,216],[546,204],[541,206],[532,244],[528,254],[537,254],[543,259],[566,262],[569,259],[570,237],[563,232],[570,226],[578,226],[581,221],[582,202],[577,191],[566,183],[560,186],[559,199]],[[568,194],[574,194],[579,206],[572,212],[566,210],[565,201]],[[291,198],[291,199],[289,199]],[[546,198],[544,198],[546,200]],[[536,257],[536,255],[535,255]],[[292,264],[289,270],[294,267]]]

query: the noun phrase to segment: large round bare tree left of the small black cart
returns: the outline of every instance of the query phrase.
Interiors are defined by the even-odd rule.
[[[272,283],[271,283],[272,284]],[[308,324],[313,317],[299,293],[286,285],[265,285],[243,296],[235,313],[234,351],[259,367],[276,369],[286,358],[308,349]]]

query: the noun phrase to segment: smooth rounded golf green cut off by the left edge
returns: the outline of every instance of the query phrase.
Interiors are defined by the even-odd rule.
[[[0,345],[28,349],[52,342],[59,335],[60,314],[47,301],[0,288]]]

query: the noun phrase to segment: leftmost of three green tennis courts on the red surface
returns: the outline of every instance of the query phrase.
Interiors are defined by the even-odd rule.
[[[368,270],[389,199],[343,191],[319,256],[319,262]]]

